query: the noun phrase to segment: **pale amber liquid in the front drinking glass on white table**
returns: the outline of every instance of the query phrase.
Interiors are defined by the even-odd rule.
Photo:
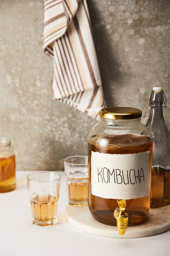
[[[58,199],[53,195],[36,195],[31,202],[33,223],[47,226],[57,223]]]

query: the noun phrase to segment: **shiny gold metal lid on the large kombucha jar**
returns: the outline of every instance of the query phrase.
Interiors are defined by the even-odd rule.
[[[142,116],[142,111],[129,107],[102,108],[99,116],[107,119],[136,119]]]

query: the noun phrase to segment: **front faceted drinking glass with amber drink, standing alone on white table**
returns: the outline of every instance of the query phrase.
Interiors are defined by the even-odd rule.
[[[39,226],[57,223],[60,175],[54,172],[35,172],[27,176],[32,222]]]

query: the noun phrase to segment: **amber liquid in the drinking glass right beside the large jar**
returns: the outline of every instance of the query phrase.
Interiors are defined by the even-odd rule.
[[[74,206],[88,205],[88,178],[68,180],[69,204]]]

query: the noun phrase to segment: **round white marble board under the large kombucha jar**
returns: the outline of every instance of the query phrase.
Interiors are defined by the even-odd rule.
[[[87,207],[65,207],[65,218],[79,230],[106,237],[135,238],[153,236],[170,230],[170,205],[157,209],[150,209],[147,218],[137,225],[127,227],[125,235],[119,235],[117,227],[108,226],[96,221]]]

